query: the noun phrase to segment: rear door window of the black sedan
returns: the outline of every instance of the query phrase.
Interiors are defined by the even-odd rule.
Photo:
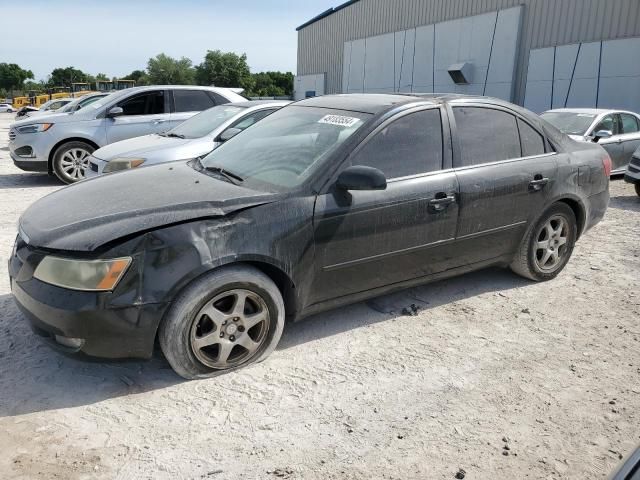
[[[522,156],[516,117],[486,107],[454,107],[460,158],[455,167],[467,167]]]

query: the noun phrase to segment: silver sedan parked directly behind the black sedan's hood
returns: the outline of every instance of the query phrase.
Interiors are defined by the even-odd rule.
[[[85,177],[205,155],[288,103],[274,100],[227,103],[205,110],[166,133],[112,143],[89,157]]]

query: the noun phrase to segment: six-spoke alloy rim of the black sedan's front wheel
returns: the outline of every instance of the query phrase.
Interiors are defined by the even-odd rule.
[[[260,295],[245,289],[218,294],[193,320],[191,350],[204,365],[231,368],[258,353],[269,331],[270,315]]]

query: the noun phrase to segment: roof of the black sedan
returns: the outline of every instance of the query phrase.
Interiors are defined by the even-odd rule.
[[[399,105],[411,103],[440,105],[443,103],[487,103],[525,113],[521,107],[504,100],[480,95],[462,95],[457,93],[347,93],[325,95],[300,100],[295,105],[305,107],[333,108],[354,112],[379,114]]]

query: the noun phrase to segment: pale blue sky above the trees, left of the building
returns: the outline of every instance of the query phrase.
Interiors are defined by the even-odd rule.
[[[200,63],[246,53],[252,72],[296,72],[296,27],[344,0],[0,0],[0,62],[124,77],[159,53]]]

